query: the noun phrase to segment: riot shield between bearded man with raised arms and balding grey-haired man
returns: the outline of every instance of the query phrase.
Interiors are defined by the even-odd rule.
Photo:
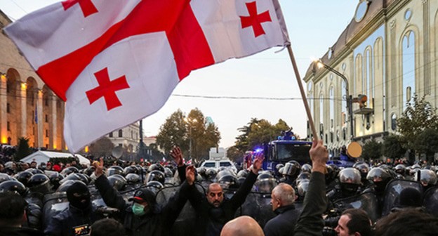
[[[267,221],[276,216],[274,211],[272,211],[270,202],[270,195],[260,192],[251,192],[246,197],[244,204],[237,209],[235,216],[251,216],[259,223],[260,227],[263,228]]]

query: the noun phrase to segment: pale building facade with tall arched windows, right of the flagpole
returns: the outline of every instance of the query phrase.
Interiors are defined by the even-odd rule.
[[[352,21],[321,57],[325,66],[312,63],[304,77],[317,135],[331,153],[352,140],[394,133],[414,93],[437,107],[437,53],[438,1],[358,1]],[[366,107],[354,102],[362,95]]]

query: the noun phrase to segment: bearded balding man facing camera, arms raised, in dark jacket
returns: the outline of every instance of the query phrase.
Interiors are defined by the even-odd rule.
[[[262,162],[263,153],[258,153],[248,177],[231,199],[224,197],[223,189],[218,183],[209,185],[206,195],[201,194],[193,184],[190,185],[189,200],[196,211],[196,222],[199,225],[194,230],[194,235],[220,235],[223,225],[234,218],[236,210],[245,202],[246,196],[257,180]]]

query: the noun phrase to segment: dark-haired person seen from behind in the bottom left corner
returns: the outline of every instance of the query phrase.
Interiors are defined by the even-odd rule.
[[[26,219],[27,202],[15,192],[0,192],[0,236],[43,235],[32,228],[21,227]]]

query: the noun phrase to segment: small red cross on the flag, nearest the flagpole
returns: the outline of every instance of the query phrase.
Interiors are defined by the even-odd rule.
[[[240,16],[242,29],[252,26],[255,37],[259,37],[260,35],[265,34],[262,23],[272,21],[269,11],[258,14],[255,1],[246,3],[246,8],[248,8],[249,16]]]

